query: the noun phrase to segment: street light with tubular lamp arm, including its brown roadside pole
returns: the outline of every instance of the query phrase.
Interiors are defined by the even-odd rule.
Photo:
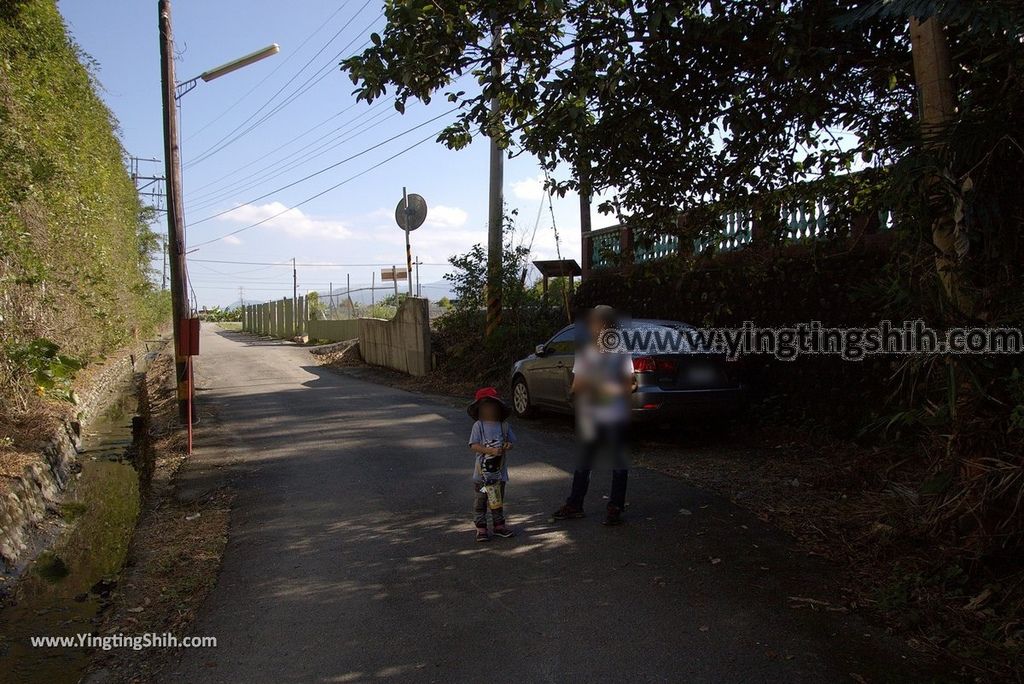
[[[190,343],[188,290],[185,275],[184,204],[181,199],[181,143],[178,139],[178,98],[196,87],[201,79],[212,81],[236,70],[276,54],[276,43],[239,57],[226,65],[203,72],[178,83],[174,80],[174,39],[171,34],[170,0],[160,0],[160,68],[164,101],[164,163],[167,176],[167,255],[171,269],[171,309],[174,330],[174,367],[177,381],[178,418],[188,426],[188,451],[191,452],[191,364],[196,349]],[[184,335],[182,332],[184,331]]]

